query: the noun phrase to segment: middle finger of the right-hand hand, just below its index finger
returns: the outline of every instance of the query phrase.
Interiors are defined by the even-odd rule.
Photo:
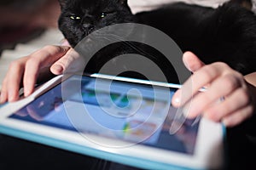
[[[207,110],[208,107],[216,104],[216,102],[218,102],[222,96],[228,96],[231,93],[235,93],[236,88],[239,87],[241,87],[240,79],[234,77],[231,74],[218,78],[215,82],[212,82],[212,86],[207,89],[206,92],[198,94],[192,99],[193,104],[195,105],[189,105],[189,108],[187,105],[184,106],[185,111],[189,111],[189,113],[185,113],[185,115],[189,118],[199,116],[201,113],[204,113],[204,111]]]

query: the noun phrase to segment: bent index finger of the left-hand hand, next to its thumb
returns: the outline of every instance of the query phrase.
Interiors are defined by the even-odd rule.
[[[46,46],[29,56],[23,79],[25,96],[32,94],[39,70],[55,63],[67,53],[68,49],[69,47],[64,46]]]

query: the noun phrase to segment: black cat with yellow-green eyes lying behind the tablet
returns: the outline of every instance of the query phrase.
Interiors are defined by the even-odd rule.
[[[256,17],[237,3],[224,3],[216,9],[172,3],[153,11],[131,14],[126,0],[59,1],[59,28],[73,47],[92,31],[105,26],[141,23],[165,32],[183,52],[194,52],[206,64],[223,61],[244,75],[256,71]],[[169,82],[177,82],[172,65],[157,50],[136,42],[127,44],[102,49],[90,61],[87,71],[98,71],[119,54],[144,54],[160,65]]]

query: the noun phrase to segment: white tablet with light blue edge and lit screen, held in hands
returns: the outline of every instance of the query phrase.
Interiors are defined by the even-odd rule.
[[[58,76],[0,108],[0,133],[146,169],[224,166],[224,127],[171,105],[180,85]]]

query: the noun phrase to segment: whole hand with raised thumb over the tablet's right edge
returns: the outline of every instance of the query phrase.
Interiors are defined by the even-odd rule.
[[[256,82],[256,77],[247,77],[246,81],[230,66],[222,62],[204,65],[190,52],[183,54],[183,62],[193,75],[174,94],[172,105],[183,107],[185,116],[195,118],[202,114],[233,127],[253,115],[256,85],[251,83]],[[207,89],[201,93],[201,88]]]

